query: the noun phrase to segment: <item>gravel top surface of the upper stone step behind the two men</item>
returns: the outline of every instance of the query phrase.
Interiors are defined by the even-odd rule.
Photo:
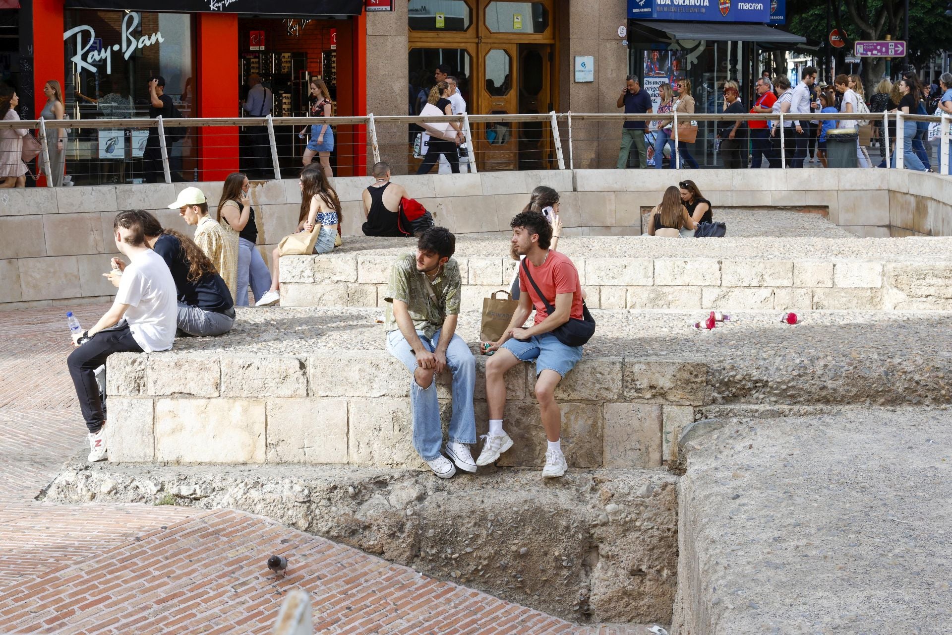
[[[739,212],[742,213],[742,212]],[[783,213],[783,212],[771,212]],[[809,214],[800,214],[808,216]],[[725,214],[726,216],[726,214]],[[806,221],[806,225],[816,221]],[[837,229],[837,231],[842,231]],[[406,238],[347,237],[344,246],[333,254],[397,257],[416,247]],[[459,236],[456,256],[506,256],[508,240],[494,236]],[[925,238],[782,238],[747,237],[674,239],[653,236],[565,237],[559,250],[570,257],[602,258],[715,258],[756,260],[883,260],[895,262],[949,260],[952,258],[952,237]]]

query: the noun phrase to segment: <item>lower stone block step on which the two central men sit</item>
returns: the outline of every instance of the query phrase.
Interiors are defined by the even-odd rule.
[[[585,357],[558,387],[570,466],[659,467],[679,430],[712,405],[947,404],[950,315],[815,311],[796,326],[740,312],[713,331],[701,312],[596,311]],[[409,374],[367,309],[239,309],[226,336],[109,358],[114,462],[423,467],[411,444]],[[479,314],[461,316],[473,349]],[[477,428],[486,433],[486,358],[477,357]],[[534,367],[507,374],[501,466],[541,466]],[[449,377],[439,378],[448,421]],[[703,414],[703,410],[701,410]]]

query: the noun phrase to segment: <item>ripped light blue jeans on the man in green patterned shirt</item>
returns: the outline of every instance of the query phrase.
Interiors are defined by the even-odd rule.
[[[427,350],[436,350],[442,329],[427,338],[417,331]],[[436,398],[436,377],[427,388],[413,378],[417,369],[416,354],[399,330],[387,333],[387,352],[403,362],[410,371],[410,409],[413,412],[413,448],[424,461],[440,457],[443,446],[443,424],[440,423],[440,402]],[[446,348],[446,366],[453,374],[453,416],[449,420],[449,440],[461,444],[476,443],[476,415],[473,412],[473,389],[476,387],[476,360],[459,335]]]

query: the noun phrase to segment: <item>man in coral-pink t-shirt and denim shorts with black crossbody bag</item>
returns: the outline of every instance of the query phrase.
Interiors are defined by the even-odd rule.
[[[552,334],[570,318],[581,320],[582,286],[579,272],[565,254],[549,250],[552,228],[545,216],[536,211],[524,211],[509,224],[512,227],[512,245],[521,256],[526,256],[519,271],[519,308],[498,342],[485,342],[486,353],[493,353],[486,361],[486,402],[489,409],[489,434],[477,466],[487,466],[512,447],[512,439],[503,430],[503,410],[506,407],[506,370],[522,362],[536,364],[535,394],[539,401],[548,448],[545,452],[543,476],[565,474],[565,455],[560,442],[562,412],[555,402],[555,387],[565,374],[582,359],[582,347],[569,347]],[[545,300],[555,310],[549,315],[545,302],[526,275],[532,276]],[[535,322],[524,328],[529,313],[535,308]]]

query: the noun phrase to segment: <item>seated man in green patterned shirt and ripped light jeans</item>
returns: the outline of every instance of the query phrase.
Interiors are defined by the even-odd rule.
[[[408,253],[390,268],[384,298],[387,351],[413,373],[413,447],[444,479],[455,474],[457,467],[476,471],[468,447],[476,443],[476,360],[463,338],[456,335],[463,281],[460,267],[452,259],[455,250],[456,237],[448,229],[427,229],[420,236],[416,253]],[[453,375],[453,416],[446,446],[433,382],[434,375],[444,370]],[[441,453],[441,447],[449,459]]]

